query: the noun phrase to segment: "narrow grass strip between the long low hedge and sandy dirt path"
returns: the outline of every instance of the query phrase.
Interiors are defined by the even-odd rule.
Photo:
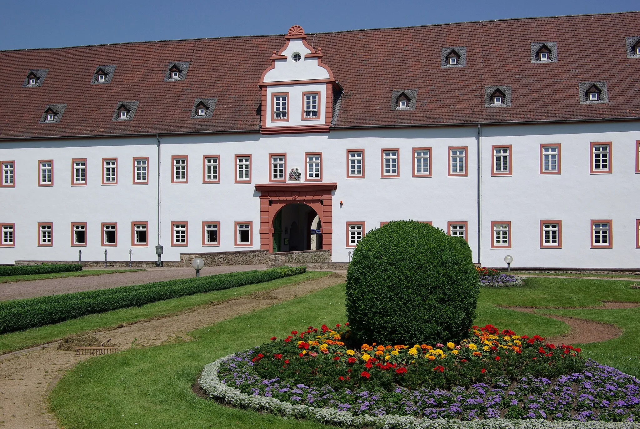
[[[40,344],[51,343],[51,341],[57,341],[69,334],[79,334],[81,332],[91,331],[95,332],[97,330],[116,327],[120,325],[120,323],[131,323],[157,316],[165,316],[167,314],[191,309],[198,305],[205,305],[216,301],[235,298],[237,296],[248,295],[253,291],[275,289],[292,283],[317,279],[329,274],[330,272],[327,271],[307,271],[304,274],[284,277],[283,279],[276,279],[271,282],[232,287],[231,289],[224,289],[222,291],[181,296],[180,298],[153,302],[151,304],[141,305],[140,307],[129,307],[99,314],[89,314],[88,316],[63,321],[54,325],[47,325],[19,332],[10,332],[8,334],[0,335],[0,354],[12,352],[13,350],[22,350],[23,348],[33,347]]]

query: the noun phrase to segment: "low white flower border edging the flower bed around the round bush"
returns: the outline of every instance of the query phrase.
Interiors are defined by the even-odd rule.
[[[218,378],[218,369],[223,360],[234,356],[230,354],[205,366],[198,383],[209,398],[220,398],[236,407],[264,410],[284,417],[315,419],[320,423],[362,428],[363,426],[380,429],[640,429],[640,423],[624,421],[620,423],[605,421],[548,421],[545,419],[486,419],[461,421],[458,419],[418,419],[410,416],[354,416],[349,411],[294,405],[277,398],[254,396],[242,393],[230,387]]]

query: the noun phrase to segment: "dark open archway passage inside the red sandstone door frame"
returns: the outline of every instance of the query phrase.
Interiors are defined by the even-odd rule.
[[[273,216],[272,252],[296,252],[322,248],[322,221],[303,203],[291,203]]]

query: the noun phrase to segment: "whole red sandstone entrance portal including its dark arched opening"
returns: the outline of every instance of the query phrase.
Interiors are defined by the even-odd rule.
[[[260,192],[260,248],[269,252],[291,251],[293,247],[331,250],[332,197],[337,186],[337,183],[255,185]],[[292,243],[294,221],[298,234]],[[312,230],[316,232],[312,234]]]

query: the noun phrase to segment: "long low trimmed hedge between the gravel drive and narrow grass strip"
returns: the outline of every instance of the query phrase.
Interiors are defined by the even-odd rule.
[[[302,274],[305,271],[307,271],[306,266],[296,268],[282,266],[262,271],[240,271],[0,302],[0,334],[178,296],[268,282],[281,277]]]

